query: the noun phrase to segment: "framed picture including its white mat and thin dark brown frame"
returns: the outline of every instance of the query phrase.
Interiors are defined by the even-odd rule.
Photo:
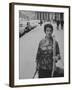
[[[12,5],[14,58],[11,62],[14,66],[10,74],[14,83],[11,84],[35,86],[69,83],[70,7]]]

